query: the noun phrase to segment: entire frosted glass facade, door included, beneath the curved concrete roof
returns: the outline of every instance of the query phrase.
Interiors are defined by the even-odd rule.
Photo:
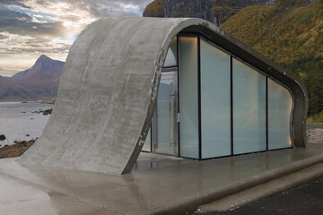
[[[178,36],[164,64],[153,138],[143,150],[212,159],[289,148],[292,104],[289,90],[251,65],[201,36]]]

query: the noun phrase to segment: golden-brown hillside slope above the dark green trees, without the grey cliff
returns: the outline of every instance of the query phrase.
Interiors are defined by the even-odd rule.
[[[249,6],[221,28],[279,64],[323,56],[323,4],[319,1]]]

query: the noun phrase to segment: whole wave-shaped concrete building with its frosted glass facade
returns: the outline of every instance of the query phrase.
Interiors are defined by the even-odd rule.
[[[20,161],[121,174],[141,150],[306,148],[307,100],[292,73],[210,22],[110,17],[74,42],[53,114]]]

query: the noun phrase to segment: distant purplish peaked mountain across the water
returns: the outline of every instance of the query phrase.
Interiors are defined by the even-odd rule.
[[[55,98],[64,62],[39,56],[28,70],[0,76],[0,101]]]

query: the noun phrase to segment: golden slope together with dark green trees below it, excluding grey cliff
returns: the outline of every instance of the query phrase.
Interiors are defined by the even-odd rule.
[[[249,6],[220,26],[298,75],[309,94],[309,114],[323,110],[323,1],[281,0]]]

